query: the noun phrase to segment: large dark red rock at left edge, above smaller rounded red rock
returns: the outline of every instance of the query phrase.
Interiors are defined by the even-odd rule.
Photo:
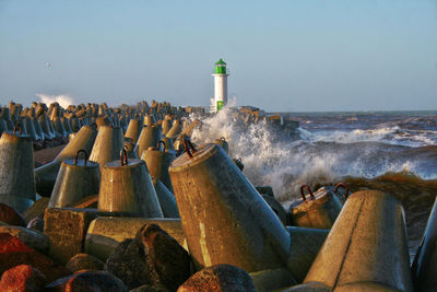
[[[70,270],[31,248],[20,238],[9,233],[0,233],[0,273],[23,264],[38,269],[49,282],[71,273]]]

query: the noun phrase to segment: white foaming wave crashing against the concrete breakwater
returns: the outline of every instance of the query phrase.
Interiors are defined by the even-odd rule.
[[[437,178],[437,147],[411,148],[381,141],[380,138],[394,132],[394,128],[354,130],[340,139],[343,142],[320,139],[300,129],[303,139],[292,140],[279,137],[263,124],[240,127],[229,108],[203,118],[202,124],[192,135],[194,143],[224,137],[229,143],[229,155],[241,157],[248,179],[253,185],[272,186],[282,202],[297,198],[303,184],[332,184],[345,176],[373,179],[386,173],[410,172],[421,179]],[[351,136],[367,139],[347,139]]]

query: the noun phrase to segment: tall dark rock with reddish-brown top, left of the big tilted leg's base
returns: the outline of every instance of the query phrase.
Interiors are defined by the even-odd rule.
[[[156,224],[144,225],[137,236],[141,236],[152,282],[176,291],[190,277],[191,261],[187,250]]]

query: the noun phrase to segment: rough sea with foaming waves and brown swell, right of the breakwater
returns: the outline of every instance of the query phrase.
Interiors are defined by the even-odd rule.
[[[304,184],[317,190],[344,182],[352,191],[391,194],[405,210],[410,247],[417,246],[437,195],[437,110],[282,115],[299,121],[297,137],[262,122],[240,127],[225,108],[201,118],[192,140],[224,137],[246,177],[271,186],[285,209]]]

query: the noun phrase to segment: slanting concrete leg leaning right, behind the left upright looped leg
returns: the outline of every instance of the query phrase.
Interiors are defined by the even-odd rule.
[[[97,131],[92,126],[83,126],[80,131],[55,157],[50,163],[47,163],[35,170],[36,191],[42,196],[50,196],[58,176],[61,162],[74,159],[75,153],[83,149],[86,153],[91,152]]]

